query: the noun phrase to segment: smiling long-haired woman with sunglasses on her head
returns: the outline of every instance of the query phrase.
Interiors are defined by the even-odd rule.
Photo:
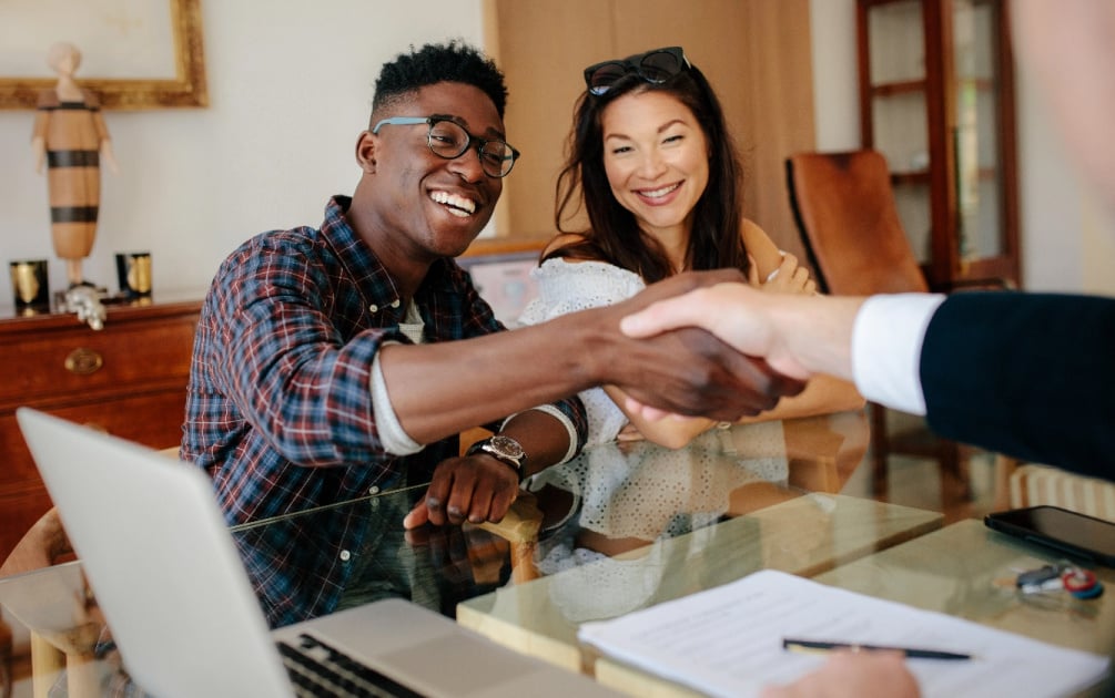
[[[560,234],[535,274],[539,297],[521,322],[621,303],[682,272],[730,268],[769,293],[812,295],[794,255],[741,212],[746,180],[724,109],[705,73],[680,47],[651,49],[583,71],[566,160],[558,178]],[[569,227],[583,209],[589,224]],[[614,386],[581,392],[589,443],[644,438],[679,448],[714,420],[648,420]],[[818,377],[759,420],[859,409],[846,382]]]

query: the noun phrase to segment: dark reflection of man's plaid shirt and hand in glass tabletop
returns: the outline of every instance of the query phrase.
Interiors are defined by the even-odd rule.
[[[268,622],[285,626],[390,597],[453,616],[458,601],[506,582],[510,543],[495,532],[403,529],[403,518],[424,492],[425,486],[404,488],[234,527],[233,540]],[[297,558],[285,554],[293,548]]]

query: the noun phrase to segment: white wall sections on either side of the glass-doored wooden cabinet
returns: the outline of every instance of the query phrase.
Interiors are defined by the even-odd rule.
[[[1037,2],[1045,0],[1021,0]],[[818,150],[860,146],[855,0],[811,0]],[[1017,50],[1017,47],[1016,47]],[[1017,57],[1016,57],[1017,58]],[[1022,278],[1034,291],[1115,295],[1115,217],[1079,188],[1025,60],[1016,66]],[[1106,263],[1104,260],[1107,260]]]

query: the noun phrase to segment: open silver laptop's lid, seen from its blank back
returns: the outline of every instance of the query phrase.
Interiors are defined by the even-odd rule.
[[[205,473],[16,415],[135,681],[167,697],[292,695]]]

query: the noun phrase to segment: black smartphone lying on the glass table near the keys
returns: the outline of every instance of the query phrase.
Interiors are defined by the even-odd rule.
[[[988,528],[1115,568],[1115,523],[1060,507],[1040,505],[987,514]]]

